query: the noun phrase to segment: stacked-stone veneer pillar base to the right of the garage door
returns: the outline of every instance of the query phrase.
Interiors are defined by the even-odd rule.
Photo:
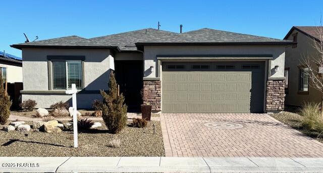
[[[266,111],[282,111],[285,102],[285,80],[267,80]]]

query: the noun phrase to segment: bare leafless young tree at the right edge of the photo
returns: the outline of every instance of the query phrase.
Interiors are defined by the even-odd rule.
[[[321,22],[320,22],[321,23]],[[322,23],[316,27],[316,38],[312,40],[315,52],[308,53],[303,58],[302,65],[308,68],[305,73],[310,82],[308,84],[322,94],[321,118],[323,118],[323,27]]]

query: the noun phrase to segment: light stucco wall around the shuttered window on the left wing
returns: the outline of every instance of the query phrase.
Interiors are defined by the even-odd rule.
[[[46,94],[48,87],[48,55],[85,56],[84,89],[85,91],[107,90],[109,82],[110,50],[106,49],[23,49],[24,92],[44,91],[43,94],[23,94],[22,99],[34,99],[37,107],[49,107],[58,101],[67,101],[70,96]],[[99,94],[79,94],[78,106],[91,106]]]

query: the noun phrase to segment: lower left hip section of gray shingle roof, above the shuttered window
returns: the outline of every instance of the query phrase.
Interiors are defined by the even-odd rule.
[[[14,48],[22,47],[42,47],[42,46],[51,46],[51,47],[110,47],[110,45],[102,44],[101,42],[82,38],[76,35],[44,39],[39,41],[25,42],[22,44],[12,45]]]

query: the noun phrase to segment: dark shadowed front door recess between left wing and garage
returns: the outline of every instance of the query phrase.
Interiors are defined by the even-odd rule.
[[[115,61],[117,83],[120,93],[125,96],[125,103],[129,112],[139,112],[142,103],[140,91],[142,89],[142,61]]]

